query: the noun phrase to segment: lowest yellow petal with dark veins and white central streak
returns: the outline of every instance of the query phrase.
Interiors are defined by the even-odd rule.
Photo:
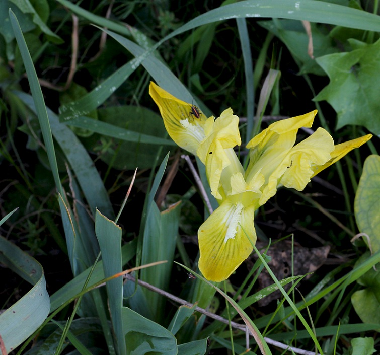
[[[199,269],[208,280],[228,278],[252,252],[254,207],[226,199],[199,227]],[[244,231],[243,231],[244,230]]]

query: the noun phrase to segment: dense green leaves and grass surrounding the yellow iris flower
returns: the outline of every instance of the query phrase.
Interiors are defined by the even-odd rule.
[[[147,86],[154,80],[208,116],[231,106],[247,117],[247,139],[265,126],[266,115],[299,115],[314,105],[337,143],[363,134],[352,125],[379,134],[377,2],[172,3],[0,1],[0,207],[4,215],[20,207],[0,219],[7,233],[0,263],[21,276],[16,283],[10,273],[2,278],[6,350],[23,343],[18,353],[30,355],[201,355],[247,347],[279,354],[276,340],[283,349],[312,353],[373,353],[380,329],[378,137],[367,159],[362,147],[344,161],[340,177],[329,170],[302,199],[281,191],[255,217],[262,240],[294,233],[306,246],[328,244],[339,266],[322,266],[307,280],[290,249],[292,262],[281,261],[288,277],[271,272],[272,285],[259,286],[263,269],[273,267],[264,252],[226,285],[213,285],[187,271],[197,271],[196,233],[209,212],[188,166],[167,154],[177,147]],[[315,59],[300,20],[311,21]],[[330,84],[312,102],[307,93],[318,93],[326,74]],[[344,129],[334,131],[322,100]],[[261,113],[263,125],[254,118]],[[216,208],[204,167],[198,170]],[[344,207],[353,203],[361,171],[355,218],[371,256],[361,250],[366,245],[349,243],[357,231]],[[139,281],[116,278],[122,270]],[[23,279],[32,286],[24,290]],[[277,303],[259,306],[276,290]],[[248,344],[245,326],[255,333]]]

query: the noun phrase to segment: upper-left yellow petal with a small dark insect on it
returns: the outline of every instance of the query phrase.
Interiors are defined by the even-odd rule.
[[[199,145],[206,137],[203,127],[205,115],[200,113],[200,118],[196,118],[191,114],[192,105],[177,99],[153,82],[149,85],[149,95],[159,107],[165,128],[171,138],[181,148],[196,154]],[[213,121],[213,118],[211,120]]]

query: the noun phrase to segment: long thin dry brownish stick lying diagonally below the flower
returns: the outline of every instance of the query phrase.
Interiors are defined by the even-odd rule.
[[[131,280],[133,282],[136,281],[136,279],[130,275],[130,274],[125,274],[123,275],[124,278],[126,278],[127,280]],[[172,300],[176,303],[179,303],[179,304],[182,304],[184,306],[187,306],[187,307],[190,307],[192,308],[194,306],[194,304],[190,303],[190,302],[187,302],[177,296],[174,296],[172,294],[170,294],[169,292],[166,292],[164,290],[161,290],[153,285],[150,285],[150,283],[147,283],[145,281],[142,281],[142,280],[137,280],[137,283],[138,285],[150,290],[150,291],[153,291],[153,292],[156,292],[162,296],[165,296],[166,298],[168,298],[169,300]],[[226,318],[223,318],[221,316],[218,316],[217,314],[215,313],[211,313],[211,312],[208,312],[207,310],[205,310],[204,308],[200,308],[200,307],[195,307],[195,311],[199,312],[199,313],[202,313],[204,315],[206,315],[207,317],[210,317],[212,319],[215,319],[219,322],[222,322],[222,323],[225,323],[225,324],[229,324],[230,321]],[[231,322],[231,326],[235,329],[239,329],[243,332],[246,332],[247,330],[247,327],[246,325],[244,324],[239,324],[239,323],[236,323],[236,322]],[[276,346],[276,347],[279,347],[280,349],[285,349],[285,350],[291,350],[293,351],[294,353],[297,353],[297,354],[300,354],[300,355],[315,355],[315,352],[312,352],[312,351],[308,351],[308,350],[303,350],[303,349],[298,349],[296,347],[291,347],[289,345],[286,345],[286,344],[283,344],[279,341],[276,341],[276,340],[272,340],[270,338],[267,338],[267,337],[264,337],[265,341],[268,343],[268,344],[271,344],[273,346]]]

